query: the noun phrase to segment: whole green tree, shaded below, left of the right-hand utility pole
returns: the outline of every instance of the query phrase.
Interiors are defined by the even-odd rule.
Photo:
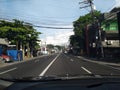
[[[94,12],[94,18],[91,13],[88,13],[84,16],[80,16],[78,20],[73,22],[74,26],[74,35],[70,36],[70,44],[72,47],[79,47],[85,50],[85,30],[86,26],[93,23],[93,20],[96,21],[99,19],[101,13],[100,11]]]

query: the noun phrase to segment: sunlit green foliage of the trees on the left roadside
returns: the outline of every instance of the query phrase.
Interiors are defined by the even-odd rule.
[[[23,21],[14,19],[10,21],[0,21],[0,38],[7,38],[12,44],[20,43],[30,45],[35,48],[37,45],[38,36],[41,34],[37,32],[32,26],[25,25]]]

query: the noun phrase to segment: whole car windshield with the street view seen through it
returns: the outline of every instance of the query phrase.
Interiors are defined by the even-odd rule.
[[[0,0],[0,78],[116,75],[119,0]]]

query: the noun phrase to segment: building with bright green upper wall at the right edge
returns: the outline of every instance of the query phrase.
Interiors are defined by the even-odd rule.
[[[102,42],[105,57],[120,57],[120,33],[118,29],[118,16],[120,8],[114,8],[104,14],[102,28],[105,32],[105,40]]]

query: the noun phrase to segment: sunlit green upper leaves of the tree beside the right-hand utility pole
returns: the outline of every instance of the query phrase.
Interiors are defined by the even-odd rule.
[[[95,11],[94,12],[94,20],[98,20],[99,19],[99,16],[100,16],[100,11]],[[73,25],[74,25],[74,33],[75,35],[78,35],[80,36],[81,38],[84,38],[84,30],[85,30],[85,27],[88,25],[88,24],[92,24],[93,23],[93,17],[91,16],[91,13],[88,13],[84,16],[80,16],[80,18],[76,21],[73,22]]]

